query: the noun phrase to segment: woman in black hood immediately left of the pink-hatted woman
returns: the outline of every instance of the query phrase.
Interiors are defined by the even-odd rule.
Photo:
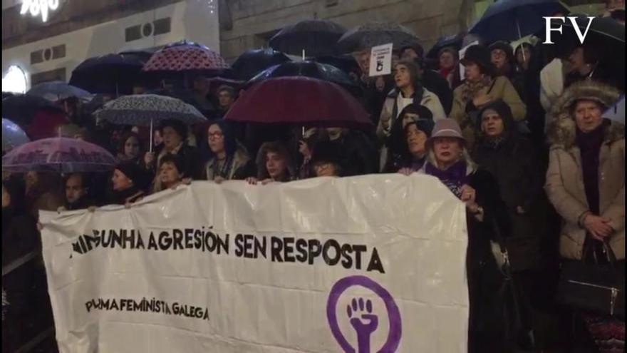
[[[433,129],[433,116],[425,106],[410,104],[400,113],[390,134],[384,173],[418,171],[425,162],[427,138]]]

